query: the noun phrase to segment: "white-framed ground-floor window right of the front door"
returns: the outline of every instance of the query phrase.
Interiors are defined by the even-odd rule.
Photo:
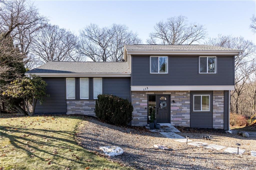
[[[193,111],[210,111],[210,95],[193,95]]]

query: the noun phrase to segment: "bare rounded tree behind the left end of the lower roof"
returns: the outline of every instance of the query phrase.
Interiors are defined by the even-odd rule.
[[[70,31],[48,24],[31,44],[31,53],[41,63],[50,61],[79,61],[76,53],[77,37]]]

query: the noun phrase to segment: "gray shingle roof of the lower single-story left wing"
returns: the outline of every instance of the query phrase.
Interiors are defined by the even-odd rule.
[[[52,61],[26,73],[130,73],[127,62]]]

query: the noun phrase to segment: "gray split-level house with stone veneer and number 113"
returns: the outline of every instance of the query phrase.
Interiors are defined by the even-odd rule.
[[[235,57],[210,45],[125,45],[123,62],[49,62],[26,72],[48,84],[36,114],[94,115],[98,94],[129,99],[134,126],[157,123],[229,129]]]

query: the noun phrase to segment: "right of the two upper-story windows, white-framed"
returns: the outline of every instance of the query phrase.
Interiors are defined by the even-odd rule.
[[[216,56],[199,57],[199,73],[216,73]]]

